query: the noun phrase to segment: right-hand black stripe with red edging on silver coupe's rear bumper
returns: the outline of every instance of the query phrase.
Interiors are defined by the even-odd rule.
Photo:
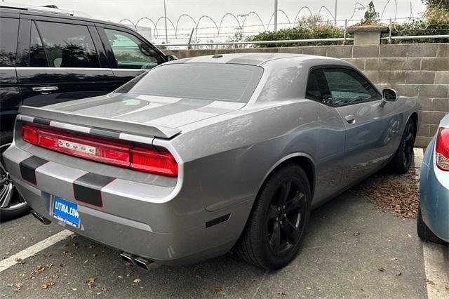
[[[86,173],[73,182],[73,192],[77,201],[93,206],[103,206],[101,190],[115,178],[95,173]]]

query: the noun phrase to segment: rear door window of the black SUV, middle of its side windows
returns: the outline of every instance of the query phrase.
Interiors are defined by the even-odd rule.
[[[100,67],[86,26],[36,22],[50,67]]]

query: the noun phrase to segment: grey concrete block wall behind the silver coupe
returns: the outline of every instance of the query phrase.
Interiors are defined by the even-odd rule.
[[[165,51],[178,58],[216,53],[279,52],[342,58],[361,69],[377,88],[394,88],[420,101],[416,145],[425,147],[449,112],[449,44],[307,46]]]

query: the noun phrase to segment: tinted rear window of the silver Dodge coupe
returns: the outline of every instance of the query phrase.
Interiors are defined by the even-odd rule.
[[[173,98],[248,102],[262,67],[215,63],[179,63],[156,67],[119,89],[119,93]]]

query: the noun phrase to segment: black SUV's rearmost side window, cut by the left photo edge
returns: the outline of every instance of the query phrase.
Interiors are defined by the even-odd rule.
[[[19,20],[0,18],[0,67],[15,67]]]

